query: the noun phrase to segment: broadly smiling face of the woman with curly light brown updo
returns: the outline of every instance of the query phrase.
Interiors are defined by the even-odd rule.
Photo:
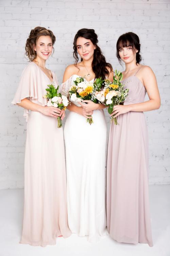
[[[53,46],[52,40],[49,35],[41,35],[38,38],[34,51],[36,51],[37,57],[43,60],[47,60],[52,54]]]

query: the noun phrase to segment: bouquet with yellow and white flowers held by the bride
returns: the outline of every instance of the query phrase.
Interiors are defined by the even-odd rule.
[[[96,97],[96,92],[101,90],[103,82],[104,80],[102,80],[101,77],[97,78],[94,83],[84,81],[83,77],[78,77],[69,91],[71,101],[80,102],[82,100],[91,100],[98,103],[99,101]],[[93,119],[91,115],[89,115],[89,117],[91,118],[87,118],[86,122],[91,125],[93,123]]]

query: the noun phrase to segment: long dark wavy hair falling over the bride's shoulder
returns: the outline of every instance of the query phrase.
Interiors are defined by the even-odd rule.
[[[73,42],[73,49],[74,49],[73,57],[75,59],[75,65],[77,65],[77,62],[79,60],[78,52],[77,52],[77,39],[79,37],[83,37],[91,40],[91,42],[96,46],[96,49],[94,51],[93,61],[92,61],[92,70],[95,73],[95,78],[102,77],[102,79],[105,79],[105,76],[109,76],[109,70],[107,68],[109,68],[111,71],[113,69],[112,69],[112,65],[106,62],[106,59],[102,54],[100,47],[97,45],[98,37],[94,29],[82,28],[75,35],[74,42]],[[83,59],[81,59],[81,61],[82,60]]]

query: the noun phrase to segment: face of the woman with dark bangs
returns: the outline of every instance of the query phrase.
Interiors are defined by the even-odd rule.
[[[130,63],[132,61],[136,61],[136,53],[138,52],[132,46],[119,48],[119,56],[124,63]]]

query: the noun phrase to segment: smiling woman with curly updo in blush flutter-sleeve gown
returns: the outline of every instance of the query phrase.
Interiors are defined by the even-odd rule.
[[[31,30],[26,43],[30,63],[23,70],[12,101],[24,108],[27,139],[24,165],[24,215],[20,243],[54,245],[56,237],[69,237],[63,129],[57,116],[64,111],[47,106],[48,84],[57,86],[54,72],[45,68],[55,36],[46,28]],[[31,110],[30,114],[29,111]]]

